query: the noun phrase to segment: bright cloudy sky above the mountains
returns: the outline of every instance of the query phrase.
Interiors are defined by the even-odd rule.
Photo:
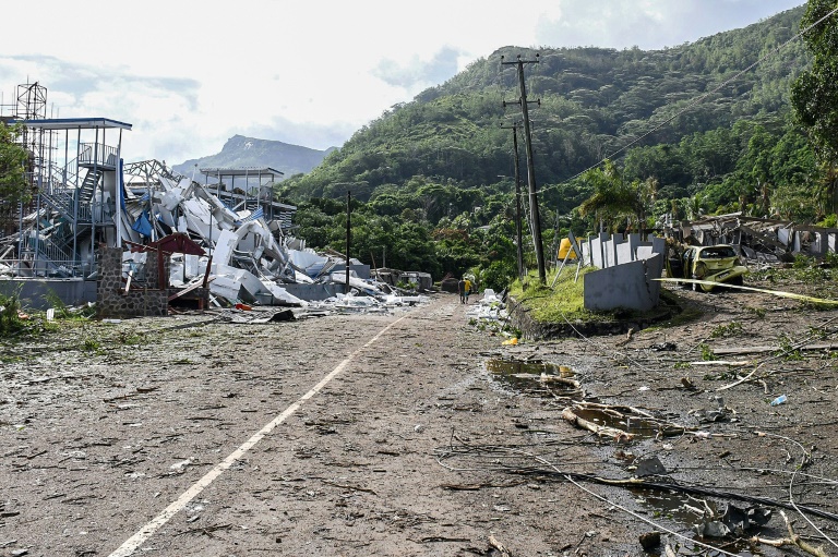
[[[48,118],[132,124],[127,161],[180,164],[236,134],[325,149],[504,46],[660,49],[803,3],[39,0],[3,11],[0,95],[37,81]]]

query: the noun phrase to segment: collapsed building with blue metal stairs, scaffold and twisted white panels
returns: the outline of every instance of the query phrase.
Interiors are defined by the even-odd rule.
[[[202,184],[158,160],[125,164],[131,124],[45,118],[37,83],[19,86],[17,102],[0,108],[23,125],[33,192],[26,204],[0,205],[2,293],[35,306],[45,293],[67,304],[96,300],[109,316],[165,314],[168,302],[194,296],[201,306],[299,306],[396,293],[369,280],[369,266],[351,259],[347,277],[345,257],[290,234],[296,207],[274,199],[277,170],[202,168]],[[139,302],[128,302],[132,292]]]

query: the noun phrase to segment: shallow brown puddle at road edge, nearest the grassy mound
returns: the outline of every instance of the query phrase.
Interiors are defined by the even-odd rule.
[[[552,397],[552,393],[567,395],[577,390],[570,380],[576,375],[566,365],[541,362],[537,360],[503,360],[492,359],[487,361],[486,370],[492,377],[518,392],[535,393],[542,397]],[[544,378],[542,379],[542,375]]]

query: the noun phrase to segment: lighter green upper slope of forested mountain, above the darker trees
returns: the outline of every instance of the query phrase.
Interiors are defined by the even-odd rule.
[[[703,95],[702,102],[642,145],[678,143],[696,132],[730,129],[743,119],[781,125],[789,85],[807,56],[800,40],[768,55],[797,33],[802,13],[801,7],[666,50],[540,50],[540,63],[526,68],[528,96],[541,100],[540,107],[530,107],[538,182],[567,180],[613,156]],[[510,174],[512,134],[501,124],[520,116],[517,105],[502,106],[519,96],[514,69],[501,70],[504,55],[506,60],[517,55],[535,60],[534,51],[505,47],[474,62],[359,130],[324,165],[287,184],[287,194],[304,199],[338,193],[330,191],[336,182],[364,181],[364,194],[372,196],[378,186],[404,184],[418,174],[464,186],[495,183],[498,174]]]

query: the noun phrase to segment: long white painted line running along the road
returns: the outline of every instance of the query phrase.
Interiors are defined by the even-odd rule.
[[[306,395],[300,397],[297,402],[291,404],[290,407],[286,408],[282,414],[274,417],[271,422],[267,423],[262,429],[256,432],[253,437],[244,441],[238,449],[232,451],[230,456],[228,456],[226,459],[224,459],[222,462],[215,465],[210,472],[207,472],[201,480],[192,484],[192,486],[183,492],[183,494],[178,497],[175,502],[169,505],[164,509],[163,512],[157,514],[154,519],[152,519],[147,524],[145,524],[137,533],[129,537],[125,543],[119,546],[117,550],[110,554],[109,557],[128,557],[129,555],[133,554],[141,545],[143,545],[149,537],[154,535],[157,530],[159,530],[160,526],[166,524],[166,522],[171,519],[175,514],[178,513],[183,507],[189,505],[189,501],[194,499],[197,494],[204,491],[205,487],[208,487],[210,484],[215,481],[216,477],[222,475],[222,473],[230,468],[237,460],[239,460],[246,452],[248,452],[255,444],[258,444],[262,438],[270,434],[277,425],[285,422],[291,414],[294,414],[297,409],[299,409],[303,402],[309,400],[311,397],[320,392],[323,387],[325,387],[332,379],[337,377],[340,372],[343,372],[349,363],[355,360],[355,358],[366,348],[371,346],[373,342],[379,340],[379,338],[384,335],[387,330],[390,330],[393,326],[395,326],[398,322],[407,317],[407,315],[403,315],[398,319],[394,320],[383,329],[379,331],[378,335],[372,337],[366,344],[363,344],[361,348],[349,354],[343,362],[340,362],[337,367],[332,370],[325,377],[323,377],[320,383],[314,385],[314,387],[311,388],[310,391],[308,391]]]

